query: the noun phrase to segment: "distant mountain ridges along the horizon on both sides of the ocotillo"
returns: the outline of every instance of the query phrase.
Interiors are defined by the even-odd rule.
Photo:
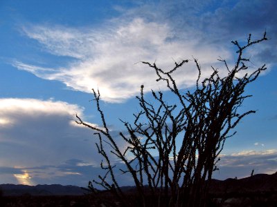
[[[1,184],[0,189],[4,196],[19,196],[19,195],[84,195],[88,193],[87,190],[78,186],[62,186],[59,184],[53,185],[37,185],[24,186],[14,184]],[[123,192],[132,193],[136,189],[134,186],[123,186]],[[217,193],[255,193],[255,192],[277,192],[277,172],[272,175],[256,174],[251,177],[242,179],[225,179],[225,180],[211,180],[210,192]]]

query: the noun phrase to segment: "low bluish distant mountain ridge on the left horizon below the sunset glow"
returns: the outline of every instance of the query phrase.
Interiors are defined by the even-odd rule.
[[[0,189],[4,196],[19,196],[19,195],[84,195],[87,191],[78,186],[62,186],[59,184],[53,185],[37,185],[25,186],[14,184],[1,184]]]

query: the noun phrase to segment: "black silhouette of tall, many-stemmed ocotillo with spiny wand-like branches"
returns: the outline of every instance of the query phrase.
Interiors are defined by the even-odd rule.
[[[153,99],[150,102],[145,99],[141,86],[141,95],[136,97],[141,111],[134,115],[133,124],[123,121],[127,135],[119,133],[127,144],[125,150],[120,150],[116,137],[111,135],[107,127],[104,112],[100,108],[99,90],[93,90],[102,127],[91,126],[76,115],[78,124],[95,131],[98,137],[96,146],[104,159],[101,168],[105,173],[98,176],[98,181],[89,182],[91,191],[99,193],[93,184],[102,186],[116,196],[120,206],[205,206],[208,185],[213,172],[218,169],[216,165],[220,161],[224,142],[235,134],[230,134],[230,130],[243,117],[255,112],[249,110],[240,113],[238,110],[244,99],[250,97],[244,95],[244,88],[266,70],[264,65],[249,72],[249,59],[244,57],[244,51],[265,40],[266,33],[256,41],[252,41],[249,34],[243,46],[238,41],[232,41],[238,48],[238,59],[233,68],[224,59],[219,59],[228,72],[224,77],[212,67],[211,76],[202,79],[201,67],[194,59],[198,78],[193,92],[180,90],[172,77],[188,60],[175,62],[175,67],[168,72],[155,63],[143,61],[156,72],[157,81],[166,83],[168,90],[177,98],[177,103],[170,104],[161,91],[152,91]],[[181,143],[181,146],[177,143]],[[153,150],[159,156],[155,157]],[[120,170],[134,179],[136,199],[129,199],[120,189],[116,180],[116,166],[111,163],[109,152],[125,164],[126,168]]]

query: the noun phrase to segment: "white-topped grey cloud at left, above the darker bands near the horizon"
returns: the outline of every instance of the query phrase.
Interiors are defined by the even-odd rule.
[[[0,99],[0,117],[6,120],[0,124],[1,164],[51,164],[85,149],[82,139],[89,132],[71,124],[76,113],[82,115],[82,108],[62,101]]]

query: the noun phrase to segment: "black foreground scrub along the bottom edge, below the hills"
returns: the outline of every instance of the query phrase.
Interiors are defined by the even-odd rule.
[[[114,204],[110,206],[120,206],[112,196],[107,196],[107,199]],[[1,207],[105,207],[108,205],[101,204],[95,201],[90,195],[64,195],[64,196],[32,196],[22,195],[17,197],[2,197],[0,199]],[[232,193],[226,194],[224,197],[218,195],[209,195],[206,206],[215,207],[231,207],[231,206],[277,206],[277,191],[260,192],[256,193]],[[153,206],[154,207],[154,206]]]

